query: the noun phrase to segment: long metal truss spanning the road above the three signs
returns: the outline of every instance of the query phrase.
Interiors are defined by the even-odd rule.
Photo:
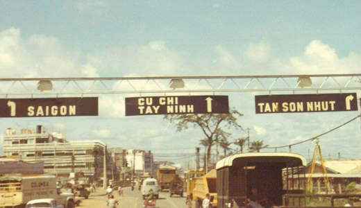
[[[310,80],[308,86],[302,79]],[[39,88],[40,81],[51,90]],[[50,81],[50,82],[49,82]],[[171,85],[177,81],[183,85]],[[181,86],[181,87],[174,87]],[[184,87],[183,87],[184,86]],[[173,88],[171,88],[173,87]],[[0,78],[0,96],[60,94],[192,94],[319,92],[361,89],[361,73],[268,76],[153,76],[110,78]]]

